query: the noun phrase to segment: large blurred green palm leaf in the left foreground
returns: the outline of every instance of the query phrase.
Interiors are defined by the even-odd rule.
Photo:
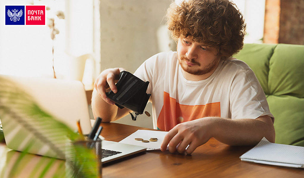
[[[13,138],[16,146],[23,147],[26,152],[35,152],[38,147],[38,151],[64,158],[70,177],[98,176],[100,161],[94,151],[75,144],[83,138],[43,111],[32,96],[4,77],[0,77],[0,118],[2,123],[5,119],[5,123],[9,123],[5,125],[5,137]],[[10,175],[18,177],[16,169],[23,158],[24,154],[20,154]],[[47,163],[41,177],[51,165],[52,161]]]

